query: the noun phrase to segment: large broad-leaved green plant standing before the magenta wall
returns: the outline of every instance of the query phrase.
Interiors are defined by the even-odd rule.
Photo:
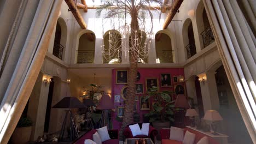
[[[149,117],[149,122],[155,121],[174,121],[172,118],[174,110],[174,100],[171,100],[171,91],[158,92],[158,87],[153,87],[148,92],[148,95],[143,100],[147,100],[150,97],[156,98],[156,102],[152,105],[153,109],[146,113],[146,117]]]

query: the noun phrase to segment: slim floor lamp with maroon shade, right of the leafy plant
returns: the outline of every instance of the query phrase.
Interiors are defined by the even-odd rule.
[[[175,100],[174,107],[183,109],[182,113],[182,127],[184,128],[184,114],[185,109],[189,108],[188,100],[185,98],[184,94],[178,94]]]

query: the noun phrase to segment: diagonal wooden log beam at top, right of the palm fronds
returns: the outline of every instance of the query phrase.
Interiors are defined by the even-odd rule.
[[[181,7],[182,2],[183,2],[183,0],[175,0],[174,1],[170,12],[168,13],[168,15],[165,19],[164,26],[162,27],[163,29],[166,29],[168,27],[168,25],[171,23],[174,15],[177,13],[179,7]]]

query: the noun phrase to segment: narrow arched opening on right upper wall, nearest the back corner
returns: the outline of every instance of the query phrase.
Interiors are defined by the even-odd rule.
[[[196,54],[194,30],[190,19],[185,20],[182,34],[185,51],[187,52],[187,59],[189,59]]]

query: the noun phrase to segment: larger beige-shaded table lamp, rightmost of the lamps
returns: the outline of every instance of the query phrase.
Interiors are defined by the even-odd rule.
[[[223,118],[222,116],[219,115],[218,111],[214,111],[214,110],[210,110],[210,111],[206,111],[205,116],[203,117],[203,119],[205,119],[206,121],[211,121],[211,128],[213,130],[213,135],[218,135],[218,133],[216,133],[216,129],[217,129],[217,125],[216,125],[216,121],[222,121]]]

